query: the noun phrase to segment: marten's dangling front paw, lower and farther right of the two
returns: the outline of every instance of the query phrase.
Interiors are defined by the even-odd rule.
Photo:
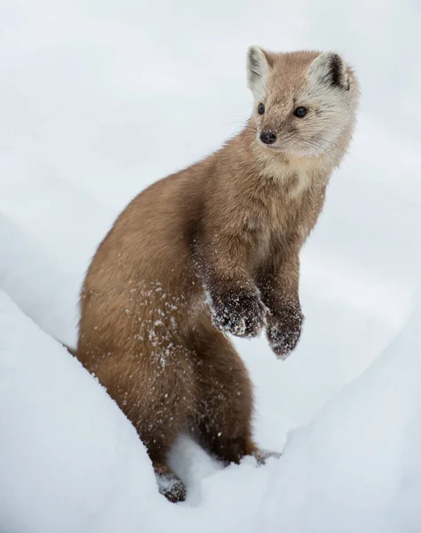
[[[266,335],[269,346],[281,359],[286,359],[297,346],[304,316],[299,306],[288,306],[267,317]]]

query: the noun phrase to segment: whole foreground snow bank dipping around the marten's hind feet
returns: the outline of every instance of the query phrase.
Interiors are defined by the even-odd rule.
[[[184,505],[95,378],[0,293],[0,526],[14,533],[406,533],[421,528],[421,307],[282,459],[222,469],[186,437]]]

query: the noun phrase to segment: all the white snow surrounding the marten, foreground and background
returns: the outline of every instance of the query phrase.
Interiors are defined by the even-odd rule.
[[[417,0],[1,0],[0,532],[421,531]],[[236,341],[256,439],[222,469],[181,437],[187,502],[75,343],[99,241],[141,189],[239,131],[249,44],[336,50],[361,80],[350,154],[302,253],[306,329]]]

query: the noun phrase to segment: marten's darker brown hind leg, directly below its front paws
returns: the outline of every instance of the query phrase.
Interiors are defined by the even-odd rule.
[[[253,392],[247,369],[231,342],[203,316],[192,333],[197,388],[193,435],[224,463],[257,455],[251,435]]]

